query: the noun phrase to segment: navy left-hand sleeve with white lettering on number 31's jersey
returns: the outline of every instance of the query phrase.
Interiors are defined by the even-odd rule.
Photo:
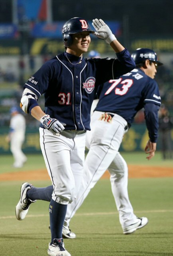
[[[52,78],[52,65],[46,62],[24,85],[24,88],[32,90],[38,98],[46,92],[49,81]]]

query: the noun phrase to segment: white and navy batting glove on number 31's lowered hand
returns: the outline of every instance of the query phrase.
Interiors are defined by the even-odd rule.
[[[64,126],[66,126],[66,124],[60,123],[60,121],[55,118],[51,118],[49,115],[42,116],[40,118],[40,122],[53,134],[59,134],[65,129]]]

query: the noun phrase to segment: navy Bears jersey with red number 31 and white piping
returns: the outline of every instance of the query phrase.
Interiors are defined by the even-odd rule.
[[[46,62],[24,85],[38,98],[44,94],[45,113],[65,123],[66,130],[90,130],[97,86],[135,67],[127,49],[117,53],[117,59],[82,58],[79,64],[80,59],[62,53]]]

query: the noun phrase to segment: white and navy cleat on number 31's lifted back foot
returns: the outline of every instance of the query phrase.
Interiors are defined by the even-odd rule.
[[[22,184],[20,189],[20,200],[16,205],[16,218],[18,220],[24,220],[26,214],[28,213],[29,207],[31,203],[36,202],[26,198],[26,192],[31,189],[33,186],[28,182]]]

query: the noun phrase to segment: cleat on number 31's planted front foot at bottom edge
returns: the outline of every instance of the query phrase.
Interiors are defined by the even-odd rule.
[[[53,243],[49,244],[49,256],[71,256],[71,254],[64,248],[63,239],[54,239]]]

